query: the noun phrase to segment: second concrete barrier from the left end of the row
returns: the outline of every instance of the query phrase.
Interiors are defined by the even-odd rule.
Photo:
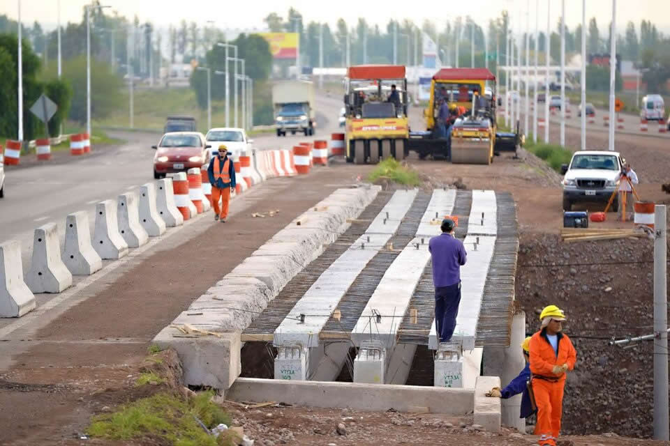
[[[72,274],[61,260],[55,223],[35,229],[33,258],[26,283],[33,293],[60,293],[72,285]]]

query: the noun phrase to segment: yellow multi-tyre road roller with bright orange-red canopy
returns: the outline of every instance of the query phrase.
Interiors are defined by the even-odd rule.
[[[349,67],[344,105],[348,162],[377,164],[387,157],[405,158],[409,136],[405,66]]]

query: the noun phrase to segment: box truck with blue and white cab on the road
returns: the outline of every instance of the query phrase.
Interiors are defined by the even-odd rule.
[[[272,105],[277,136],[286,132],[314,134],[314,85],[306,81],[278,82],[272,86]]]

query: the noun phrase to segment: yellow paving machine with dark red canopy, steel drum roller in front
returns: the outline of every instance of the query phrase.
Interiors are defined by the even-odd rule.
[[[442,102],[452,109],[453,124],[438,125]],[[444,158],[454,163],[491,164],[500,151],[515,151],[519,132],[498,132],[496,76],[486,68],[442,68],[431,79],[426,130],[409,134],[408,150],[424,159]]]

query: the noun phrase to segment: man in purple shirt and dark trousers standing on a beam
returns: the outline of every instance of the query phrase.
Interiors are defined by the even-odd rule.
[[[454,220],[442,220],[442,233],[431,238],[428,249],[433,259],[435,286],[435,326],[440,342],[448,342],[456,329],[461,303],[461,266],[468,254],[461,240],[454,237]]]

